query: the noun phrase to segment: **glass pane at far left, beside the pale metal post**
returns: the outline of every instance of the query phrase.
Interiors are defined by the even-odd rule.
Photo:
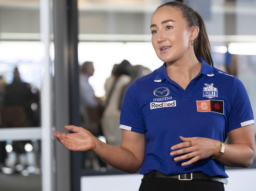
[[[39,15],[39,0],[0,1],[0,130],[1,135],[9,132],[7,140],[0,137],[3,190],[41,190],[41,140],[37,138],[44,55]],[[20,134],[19,138],[23,127],[27,137]]]

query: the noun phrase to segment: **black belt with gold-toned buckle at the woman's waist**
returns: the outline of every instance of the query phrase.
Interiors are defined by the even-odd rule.
[[[228,184],[228,179],[218,176],[208,176],[204,173],[186,173],[186,174],[180,174],[180,175],[165,175],[159,171],[151,171],[150,173],[147,173],[143,175],[144,177],[156,177],[156,178],[178,178],[179,180],[209,180],[209,181],[217,181],[217,182],[223,182],[224,184]]]

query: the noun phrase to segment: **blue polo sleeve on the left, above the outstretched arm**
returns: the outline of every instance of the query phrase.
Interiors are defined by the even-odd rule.
[[[133,82],[124,95],[121,107],[120,129],[145,133],[145,122],[139,105],[137,82]]]

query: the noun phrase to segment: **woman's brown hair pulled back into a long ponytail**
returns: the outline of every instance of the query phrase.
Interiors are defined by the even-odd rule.
[[[199,33],[197,38],[194,40],[193,45],[195,55],[196,57],[202,57],[208,64],[213,66],[213,60],[211,57],[211,45],[202,16],[194,11],[191,7],[181,2],[168,2],[160,5],[157,9],[163,6],[178,7],[178,9],[182,11],[182,16],[186,19],[187,26],[189,28],[192,26],[199,27]]]

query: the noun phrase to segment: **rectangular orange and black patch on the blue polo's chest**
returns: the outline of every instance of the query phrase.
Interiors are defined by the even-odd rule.
[[[224,101],[223,100],[197,100],[198,112],[215,112],[224,114]]]

